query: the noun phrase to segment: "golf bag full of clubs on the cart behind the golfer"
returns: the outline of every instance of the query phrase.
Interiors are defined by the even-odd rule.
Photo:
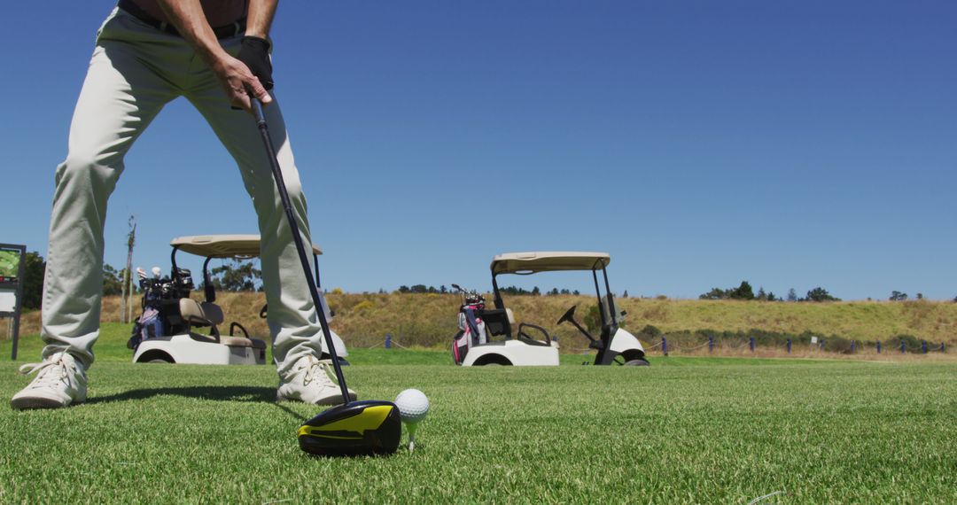
[[[126,340],[129,349],[136,350],[143,340],[173,335],[182,329],[179,299],[189,297],[193,289],[192,274],[188,269],[176,269],[172,278],[160,278],[159,273],[159,267],[155,267],[154,276],[149,278],[143,269],[137,269],[143,292],[143,314],[133,324],[132,335]]]

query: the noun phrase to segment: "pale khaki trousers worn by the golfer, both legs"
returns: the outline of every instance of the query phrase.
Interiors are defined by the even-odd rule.
[[[240,39],[241,34],[220,43],[236,55]],[[47,344],[43,356],[68,351],[86,367],[93,363],[93,345],[100,334],[107,200],[126,152],[164,105],[180,96],[199,110],[233,155],[253,199],[262,237],[268,323],[281,373],[301,356],[322,352],[324,344],[256,121],[230,107],[219,81],[188,42],[120,9],[100,28],[70,125],[67,158],[56,167],[42,307],[41,337]],[[278,102],[265,113],[302,241],[311,244],[299,172]],[[204,210],[198,200],[184,205]]]

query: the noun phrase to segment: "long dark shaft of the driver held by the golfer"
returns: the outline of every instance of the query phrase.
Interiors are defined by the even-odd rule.
[[[268,154],[269,165],[273,170],[273,179],[276,180],[276,188],[279,191],[279,199],[282,201],[282,209],[285,210],[286,220],[289,221],[289,229],[293,234],[293,241],[296,242],[296,251],[299,253],[300,263],[302,264],[302,274],[305,275],[306,283],[309,285],[309,294],[312,296],[312,304],[316,309],[316,315],[319,317],[319,325],[323,329],[325,345],[329,348],[329,356],[332,358],[332,367],[336,370],[336,379],[339,380],[339,387],[343,391],[343,403],[348,404],[349,390],[345,387],[343,367],[339,363],[336,346],[332,341],[332,333],[329,331],[329,321],[325,320],[325,311],[322,300],[319,297],[319,290],[316,288],[316,282],[312,278],[312,269],[309,267],[309,256],[306,254],[305,246],[302,244],[299,224],[296,222],[296,214],[293,213],[293,207],[289,201],[289,193],[286,191],[286,183],[282,179],[282,170],[276,158],[276,148],[273,146],[273,141],[269,138],[269,127],[266,124],[266,116],[262,112],[262,102],[250,96],[250,103],[253,105],[256,125],[259,127],[259,133],[262,135],[262,143],[266,146],[266,154]]]

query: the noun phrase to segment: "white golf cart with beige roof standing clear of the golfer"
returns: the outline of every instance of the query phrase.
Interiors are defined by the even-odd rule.
[[[647,366],[649,363],[645,360],[641,342],[618,325],[624,320],[625,313],[618,311],[609,287],[606,268],[611,261],[612,257],[608,253],[506,253],[495,256],[491,265],[495,308],[479,310],[476,316],[484,322],[488,336],[504,336],[505,340],[471,346],[460,364],[558,364],[558,342],[549,336],[545,328],[523,322],[516,329],[513,339],[515,317],[501,299],[497,277],[500,274],[528,275],[582,270],[591,271],[594,279],[601,334],[597,338],[592,336],[575,320],[576,305],[572,305],[556,324],[569,322],[589,340],[589,347],[597,351],[594,364]],[[605,281],[604,296],[598,283],[599,270]],[[533,338],[529,331],[532,335],[541,336],[541,339]]]

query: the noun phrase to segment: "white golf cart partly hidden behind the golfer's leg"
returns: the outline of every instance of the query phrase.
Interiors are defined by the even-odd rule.
[[[266,342],[250,337],[239,322],[229,325],[229,334],[223,335],[220,326],[226,318],[215,304],[216,293],[210,276],[213,258],[249,259],[259,255],[259,235],[199,235],[174,238],[169,242],[171,274],[160,278],[160,269],[153,269],[147,278],[139,271],[143,289],[143,316],[133,328],[127,347],[134,350],[133,362],[170,362],[194,364],[265,364]],[[203,256],[203,301],[189,297],[193,289],[187,269],[176,264],[176,253],[185,252]],[[323,252],[312,246],[316,281],[319,284],[319,255]],[[259,313],[266,317],[267,307]],[[202,332],[200,332],[202,330]],[[346,356],[345,343],[332,334],[336,352]],[[323,342],[323,359],[328,358]]]

